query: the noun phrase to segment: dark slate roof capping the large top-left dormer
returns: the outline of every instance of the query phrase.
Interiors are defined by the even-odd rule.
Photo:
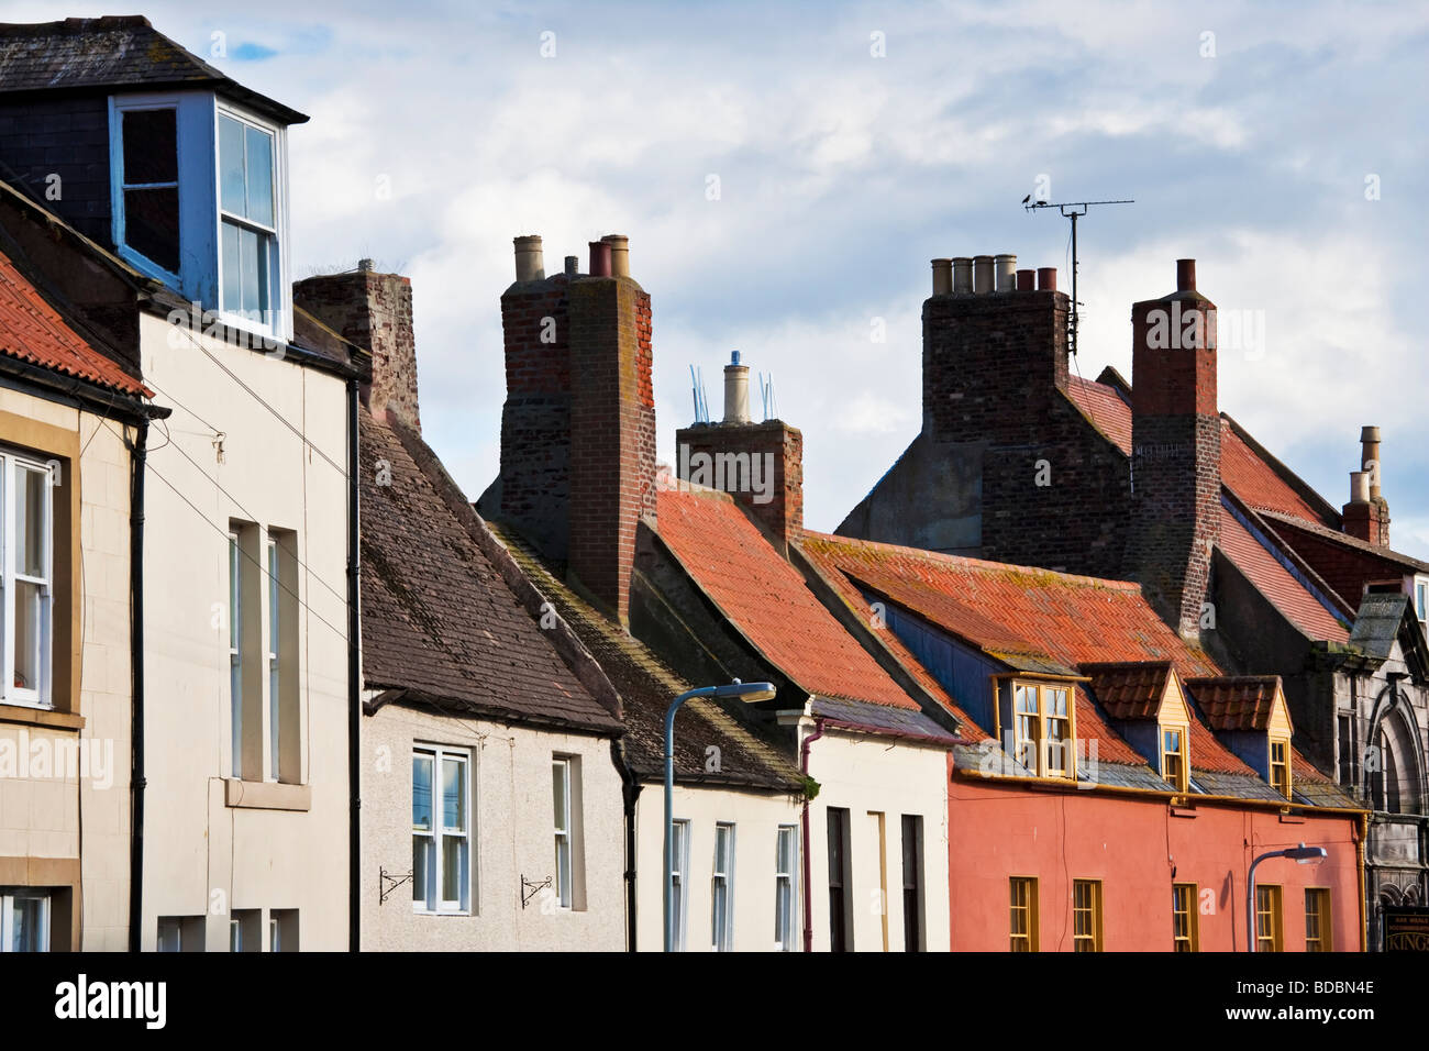
[[[283,124],[307,117],[229,77],[141,16],[0,23],[0,99],[33,92],[211,87]]]

